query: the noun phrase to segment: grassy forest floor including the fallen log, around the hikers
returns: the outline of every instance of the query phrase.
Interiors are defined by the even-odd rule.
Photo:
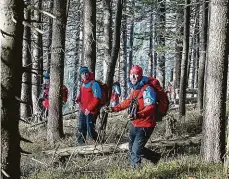
[[[21,135],[33,142],[21,143],[24,151],[32,153],[21,157],[22,178],[227,178],[222,164],[205,163],[200,158],[202,120],[198,118],[196,109],[189,109],[182,123],[177,120],[176,111],[169,112],[163,121],[158,123],[147,143],[147,148],[155,155],[154,160],[143,159],[142,166],[138,169],[132,169],[129,164],[129,123],[127,124],[123,115],[124,112],[109,114],[107,137],[102,146],[87,139],[87,145],[80,146],[81,148],[76,143],[77,113],[64,120],[65,138],[55,146],[46,141],[45,124],[31,127],[21,123]],[[166,131],[168,121],[173,122],[172,134]],[[84,153],[84,150],[90,147],[104,146],[105,149],[105,146],[111,144],[112,147],[106,152],[101,149]],[[67,154],[58,153],[69,147],[71,150]],[[51,154],[44,153],[50,150],[53,151]]]

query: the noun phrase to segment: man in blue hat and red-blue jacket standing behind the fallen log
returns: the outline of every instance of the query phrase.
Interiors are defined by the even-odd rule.
[[[86,142],[87,134],[94,141],[97,139],[98,134],[95,131],[95,122],[99,112],[102,92],[99,83],[95,81],[94,74],[90,73],[87,67],[80,68],[80,76],[82,86],[80,87],[80,94],[75,102],[80,105],[78,122],[80,134],[77,135],[77,142],[82,145]]]

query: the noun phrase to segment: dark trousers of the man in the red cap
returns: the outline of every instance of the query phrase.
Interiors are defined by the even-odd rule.
[[[144,154],[144,146],[149,140],[154,128],[134,127],[131,123],[129,135],[129,150],[131,166],[135,167],[141,163],[141,156]]]

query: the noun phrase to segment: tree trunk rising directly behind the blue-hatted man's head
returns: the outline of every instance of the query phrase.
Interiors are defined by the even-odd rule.
[[[96,1],[84,0],[83,59],[90,71],[96,63]]]

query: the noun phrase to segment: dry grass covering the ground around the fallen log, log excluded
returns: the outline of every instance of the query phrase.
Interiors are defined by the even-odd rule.
[[[123,113],[109,116],[106,143],[124,143],[128,141],[128,125],[122,118]],[[169,114],[177,119],[176,113]],[[76,146],[76,119],[68,122],[65,127],[66,137],[55,146],[59,148]],[[73,179],[73,178],[225,178],[220,164],[206,164],[199,158],[199,146],[190,145],[178,148],[166,148],[160,152],[162,157],[156,165],[143,160],[143,165],[133,170],[129,165],[128,152],[111,153],[109,155],[73,155],[69,157],[47,156],[43,150],[53,149],[46,141],[46,127],[29,128],[21,125],[23,137],[33,141],[32,144],[22,142],[21,147],[31,155],[22,156],[22,178],[29,179]],[[175,133],[177,136],[193,136],[201,132],[201,121],[195,110],[187,113],[186,121],[182,125],[177,122]],[[123,135],[121,135],[123,133]],[[164,122],[158,123],[151,140],[166,139]],[[93,143],[88,139],[88,143]],[[153,148],[152,148],[153,149]]]

